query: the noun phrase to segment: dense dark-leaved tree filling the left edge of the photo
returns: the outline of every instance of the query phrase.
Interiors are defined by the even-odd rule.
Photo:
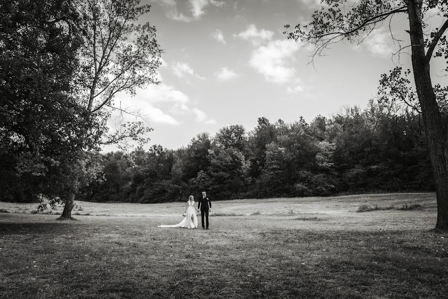
[[[71,95],[81,45],[76,6],[2,1],[0,11],[0,199],[56,197],[70,153],[90,143],[86,109]]]

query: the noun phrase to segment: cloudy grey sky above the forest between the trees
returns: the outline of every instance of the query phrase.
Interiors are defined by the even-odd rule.
[[[290,123],[302,116],[331,116],[344,106],[365,108],[382,73],[410,68],[388,23],[362,43],[338,43],[311,62],[310,47],[288,40],[284,25],[310,20],[320,0],[142,0],[163,49],[158,85],[134,97],[116,96],[116,106],[144,115],[151,141],[144,146],[186,147],[202,132],[214,136],[230,125],[253,130],[259,117]],[[408,20],[394,17],[394,36],[409,39]],[[438,78],[438,65],[432,71]],[[439,78],[440,79],[440,78]],[[440,79],[442,80],[442,79]],[[117,104],[120,103],[120,104]],[[116,150],[113,146],[104,151]]]

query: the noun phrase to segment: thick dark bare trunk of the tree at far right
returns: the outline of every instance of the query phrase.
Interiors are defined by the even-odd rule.
[[[412,67],[422,109],[423,125],[436,181],[436,229],[448,230],[448,147],[447,130],[431,83],[430,64],[425,61],[425,44],[421,19],[423,0],[408,0],[412,45]]]

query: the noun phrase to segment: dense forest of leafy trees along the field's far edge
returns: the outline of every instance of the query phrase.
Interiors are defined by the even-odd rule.
[[[260,117],[252,131],[233,125],[186,148],[154,145],[99,161],[83,200],[177,201],[201,189],[223,200],[435,188],[419,115],[373,100],[309,124]]]

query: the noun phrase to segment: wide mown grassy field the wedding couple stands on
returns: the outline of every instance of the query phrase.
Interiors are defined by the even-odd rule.
[[[433,193],[213,202],[210,230],[157,228],[186,202],[78,204],[0,203],[0,298],[448,298]]]

